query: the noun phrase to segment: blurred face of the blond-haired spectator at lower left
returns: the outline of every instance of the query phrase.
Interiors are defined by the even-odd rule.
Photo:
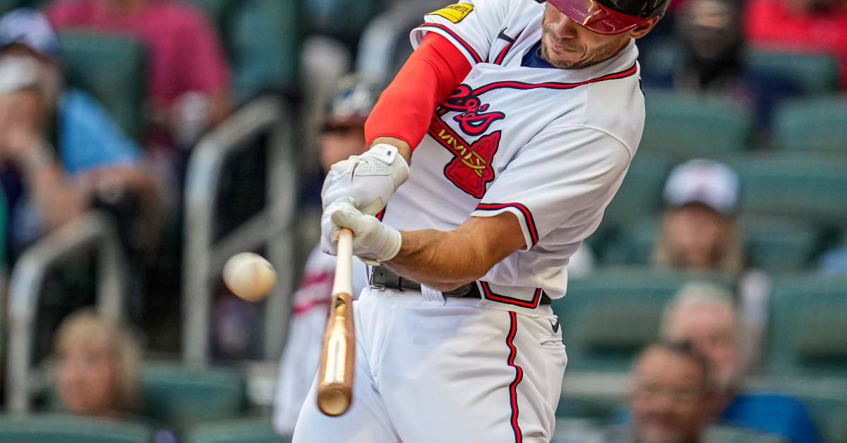
[[[108,338],[77,336],[58,349],[57,389],[72,413],[108,413],[114,409],[117,361]]]

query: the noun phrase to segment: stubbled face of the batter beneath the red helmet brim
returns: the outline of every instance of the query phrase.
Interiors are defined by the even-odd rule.
[[[580,69],[619,53],[630,38],[646,34],[656,20],[621,34],[606,36],[577,24],[547,3],[542,20],[541,58],[559,69]]]

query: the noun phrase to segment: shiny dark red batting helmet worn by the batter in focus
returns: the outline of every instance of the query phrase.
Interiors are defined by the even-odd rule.
[[[547,0],[573,21],[598,34],[620,34],[662,17],[671,0]]]

